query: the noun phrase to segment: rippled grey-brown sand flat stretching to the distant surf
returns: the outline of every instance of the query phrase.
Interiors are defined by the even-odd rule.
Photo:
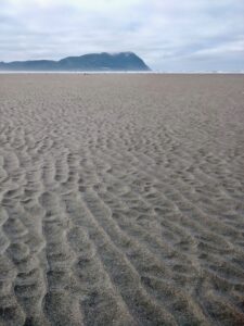
[[[244,76],[0,75],[0,325],[244,325]]]

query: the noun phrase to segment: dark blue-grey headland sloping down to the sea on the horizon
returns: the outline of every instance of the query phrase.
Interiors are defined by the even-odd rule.
[[[89,53],[60,61],[0,62],[0,71],[31,72],[147,72],[151,68],[133,52]]]

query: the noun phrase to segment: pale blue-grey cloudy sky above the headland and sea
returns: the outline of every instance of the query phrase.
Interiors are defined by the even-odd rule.
[[[103,51],[158,71],[244,71],[244,0],[0,0],[0,61]]]

